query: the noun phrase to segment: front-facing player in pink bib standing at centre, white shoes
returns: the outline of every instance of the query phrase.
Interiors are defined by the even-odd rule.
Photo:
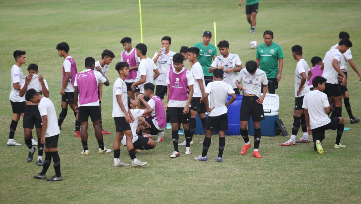
[[[191,113],[189,108],[193,96],[194,79],[192,73],[182,67],[184,56],[180,53],[173,55],[173,66],[167,76],[167,97],[165,101],[165,110],[168,110],[170,123],[172,125],[172,139],[174,151],[170,158],[179,157],[178,150],[178,123],[183,123],[184,135],[186,137],[186,154],[191,154],[191,130],[189,121]],[[189,91],[189,92],[188,92]]]

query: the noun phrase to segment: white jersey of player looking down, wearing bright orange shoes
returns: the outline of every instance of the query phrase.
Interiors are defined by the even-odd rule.
[[[237,77],[238,82],[243,82],[242,90],[245,94],[254,94],[257,97],[261,97],[261,87],[268,84],[266,72],[257,69],[256,72],[252,75],[246,68],[241,69]]]

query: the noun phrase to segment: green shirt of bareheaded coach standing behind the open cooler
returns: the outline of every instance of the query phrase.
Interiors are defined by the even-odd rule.
[[[270,46],[262,43],[257,47],[256,58],[260,59],[260,69],[266,72],[268,79],[277,78],[278,59],[284,58],[281,46],[272,42]]]

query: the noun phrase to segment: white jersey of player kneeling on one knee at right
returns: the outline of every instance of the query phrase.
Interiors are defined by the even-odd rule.
[[[302,108],[308,109],[311,129],[324,126],[331,122],[331,119],[325,112],[325,108],[329,106],[327,95],[319,90],[310,91],[305,95]]]

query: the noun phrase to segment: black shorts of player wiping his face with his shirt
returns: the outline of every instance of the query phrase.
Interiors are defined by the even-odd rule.
[[[42,117],[40,116],[38,105],[26,105],[23,118],[23,128],[33,129],[42,127]]]

